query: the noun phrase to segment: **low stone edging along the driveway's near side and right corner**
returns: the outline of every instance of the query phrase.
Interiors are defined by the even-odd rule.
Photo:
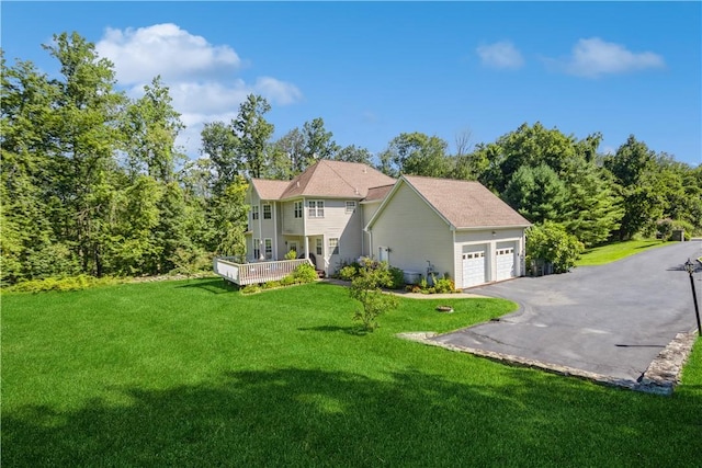
[[[641,381],[619,379],[602,374],[590,373],[587,370],[557,364],[543,363],[541,361],[529,359],[526,357],[514,356],[511,354],[502,354],[492,351],[478,350],[475,347],[463,347],[449,343],[440,343],[430,340],[430,338],[438,335],[438,333],[431,331],[398,333],[396,334],[396,336],[404,340],[428,344],[430,346],[439,346],[451,351],[487,357],[489,359],[505,364],[539,368],[568,377],[578,377],[591,380],[596,384],[623,387],[630,390],[644,391],[647,393],[671,395],[675,386],[680,383],[680,373],[682,370],[682,366],[688,359],[688,356],[690,355],[690,351],[692,351],[695,334],[697,333],[678,333],[676,338],[668,344],[668,346],[666,346],[665,350],[658,353],[658,356],[656,356],[654,362],[648,366],[648,369],[646,369],[646,372],[644,373]]]

